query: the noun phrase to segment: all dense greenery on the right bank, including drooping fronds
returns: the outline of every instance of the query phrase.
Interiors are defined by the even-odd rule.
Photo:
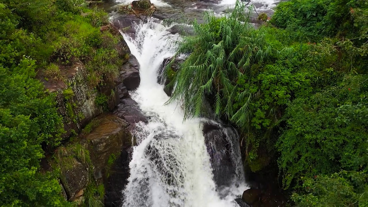
[[[258,29],[243,4],[206,17],[177,42],[190,55],[169,101],[186,117],[209,102],[252,171],[277,160],[298,206],[367,206],[368,2],[290,0]]]

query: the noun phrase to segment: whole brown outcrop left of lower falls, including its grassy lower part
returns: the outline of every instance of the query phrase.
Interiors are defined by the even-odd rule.
[[[99,123],[98,126],[89,133],[81,134],[77,143],[58,149],[61,151],[59,154],[63,154],[59,162],[62,165],[61,184],[67,199],[76,203],[84,201],[84,192],[88,185],[105,184],[109,192],[118,192],[129,176],[131,150],[127,150],[131,147],[132,136],[127,130],[128,123],[113,114],[100,115],[94,122]],[[76,150],[75,145],[83,147]],[[81,154],[84,154],[84,159],[81,159]],[[121,167],[123,159],[125,164]],[[122,174],[125,175],[124,178],[116,178]],[[110,176],[119,179],[123,184],[113,185]]]

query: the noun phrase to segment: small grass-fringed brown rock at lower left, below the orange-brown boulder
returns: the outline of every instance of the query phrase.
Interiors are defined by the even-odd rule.
[[[69,200],[73,200],[77,193],[88,185],[88,169],[77,159],[71,160],[71,167],[63,170],[61,179]]]

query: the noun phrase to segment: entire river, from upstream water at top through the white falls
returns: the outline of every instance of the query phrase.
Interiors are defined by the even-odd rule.
[[[159,10],[169,13],[171,18],[177,15],[178,18],[185,16],[190,19],[201,19],[208,9],[220,15],[235,4],[235,0],[223,0],[218,4],[202,2],[200,5],[208,9],[202,9],[203,6],[199,9],[199,3],[192,1],[151,2]],[[258,5],[259,10],[267,11],[275,6],[272,0],[253,3],[260,2],[263,3]],[[109,7],[126,3],[130,2],[118,0]],[[118,14],[112,12],[112,15]],[[217,123],[199,118],[183,121],[184,112],[180,105],[164,104],[169,97],[163,85],[157,83],[157,77],[163,60],[174,55],[175,47],[170,41],[180,39],[180,36],[170,34],[169,27],[154,18],[133,27],[135,35],[123,36],[138,60],[141,84],[130,94],[150,119],[148,123],[138,123],[132,131],[137,145],[133,148],[129,164],[128,184],[123,189],[123,207],[238,207],[234,199],[241,197],[248,186],[236,131],[223,127],[230,147],[211,148],[211,143],[205,140],[204,123]],[[214,149],[217,152],[213,153]],[[222,156],[228,154],[230,156],[222,166]],[[233,170],[226,171],[227,165]],[[219,179],[227,182],[219,182]],[[220,186],[219,183],[226,185]]]

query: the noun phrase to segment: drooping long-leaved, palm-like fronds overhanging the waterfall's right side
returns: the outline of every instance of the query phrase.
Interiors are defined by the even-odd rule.
[[[272,53],[265,34],[249,24],[249,9],[237,2],[226,17],[207,13],[205,24],[193,22],[194,36],[173,42],[178,49],[166,70],[176,57],[190,54],[171,81],[176,87],[168,101],[183,103],[185,118],[203,115],[204,103],[209,99],[217,117],[226,116],[239,127],[249,125],[253,96],[248,91],[238,92],[237,80],[250,76],[251,66],[266,61]],[[245,99],[243,106],[234,109],[236,100]]]

